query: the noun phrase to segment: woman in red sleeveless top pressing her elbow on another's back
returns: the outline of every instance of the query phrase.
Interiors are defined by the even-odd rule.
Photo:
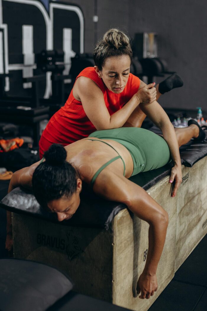
[[[132,49],[123,32],[109,30],[97,44],[94,60],[96,66],[80,72],[65,105],[43,131],[40,158],[53,143],[66,146],[95,130],[130,126],[128,119],[133,115],[141,125],[146,115],[138,105],[156,99],[153,83],[146,86],[129,73]]]

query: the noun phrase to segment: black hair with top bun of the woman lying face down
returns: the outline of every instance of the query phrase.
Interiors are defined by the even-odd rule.
[[[53,144],[44,153],[45,162],[35,169],[32,177],[34,196],[41,207],[61,197],[69,198],[77,189],[78,173],[66,161],[67,152],[60,144]]]

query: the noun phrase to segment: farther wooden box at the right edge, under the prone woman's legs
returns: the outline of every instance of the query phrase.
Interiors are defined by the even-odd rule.
[[[207,233],[207,156],[182,166],[178,191],[175,272]]]

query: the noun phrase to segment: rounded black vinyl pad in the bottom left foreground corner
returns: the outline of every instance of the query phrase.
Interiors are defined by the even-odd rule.
[[[43,311],[65,296],[72,282],[42,263],[0,259],[0,310]]]

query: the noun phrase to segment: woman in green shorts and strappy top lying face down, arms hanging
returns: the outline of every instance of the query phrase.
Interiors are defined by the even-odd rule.
[[[180,130],[178,144],[185,143],[185,137],[197,137],[198,132],[195,124],[185,131]],[[90,184],[93,191],[105,199],[126,204],[149,224],[146,265],[137,282],[140,298],[148,299],[157,290],[156,270],[164,246],[168,214],[128,178],[159,168],[169,160],[167,143],[153,132],[142,128],[102,130],[65,147],[52,145],[41,162],[13,174],[9,191],[19,185],[33,187],[40,205],[55,212],[59,221],[70,219],[79,207],[82,182]],[[170,182],[174,176],[172,169]],[[173,196],[180,182],[176,181]]]

